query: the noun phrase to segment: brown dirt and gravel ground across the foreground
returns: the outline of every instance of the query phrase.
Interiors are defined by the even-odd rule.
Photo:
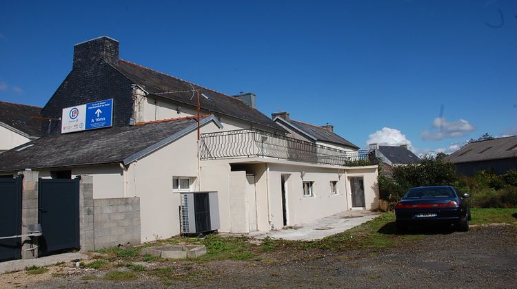
[[[517,288],[517,226],[437,232],[383,250],[298,250],[247,261],[178,262],[132,281],[105,279],[106,270],[51,267],[41,275],[0,275],[5,288]],[[117,270],[128,270],[119,268]],[[156,272],[156,270],[154,270]]]

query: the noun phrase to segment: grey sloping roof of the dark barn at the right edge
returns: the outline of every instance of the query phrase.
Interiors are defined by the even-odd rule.
[[[477,162],[501,158],[517,158],[517,136],[470,142],[445,158],[449,162]]]

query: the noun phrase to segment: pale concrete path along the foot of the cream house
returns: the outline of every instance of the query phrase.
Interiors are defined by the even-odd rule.
[[[373,220],[378,215],[380,214],[365,210],[345,211],[314,222],[301,224],[300,226],[283,228],[280,231],[253,232],[249,236],[256,239],[263,239],[269,236],[273,239],[312,241],[347,231],[369,220]]]

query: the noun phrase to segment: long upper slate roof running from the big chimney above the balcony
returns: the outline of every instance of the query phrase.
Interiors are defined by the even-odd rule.
[[[202,109],[232,116],[233,118],[239,118],[240,120],[252,122],[257,125],[263,125],[264,127],[269,127],[277,131],[287,132],[283,127],[277,125],[276,122],[272,121],[257,109],[249,107],[238,98],[227,96],[221,92],[216,92],[212,89],[207,89],[200,85],[189,83],[180,78],[163,74],[122,59],[110,63],[110,65],[150,94],[196,107],[197,100],[195,96],[192,98],[191,92],[193,86],[195,89],[199,89],[199,103]],[[210,99],[204,98],[201,94],[205,94],[205,96]]]

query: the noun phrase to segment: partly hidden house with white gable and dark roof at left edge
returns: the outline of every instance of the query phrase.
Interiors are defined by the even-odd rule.
[[[41,107],[0,101],[0,153],[41,135]]]

